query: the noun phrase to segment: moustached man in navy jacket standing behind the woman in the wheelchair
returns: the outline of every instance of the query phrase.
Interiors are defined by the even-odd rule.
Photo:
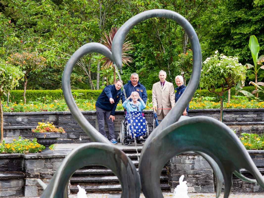
[[[138,79],[139,79],[138,74],[133,73],[130,76],[130,81],[128,81],[128,83],[126,83],[124,85],[124,89],[126,92],[126,98],[128,98],[132,92],[136,91],[139,93],[140,98],[142,98],[142,100],[146,104],[146,102],[147,102],[147,91],[146,91],[146,88],[143,86],[143,84],[138,82]],[[122,103],[125,102],[126,98],[124,95],[124,90],[122,90]],[[132,99],[130,99],[130,101],[132,101]]]

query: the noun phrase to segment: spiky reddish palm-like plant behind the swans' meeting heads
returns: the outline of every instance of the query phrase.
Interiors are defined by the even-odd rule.
[[[115,27],[112,27],[110,32],[108,31],[108,34],[107,32],[104,32],[104,37],[101,39],[102,41],[102,44],[105,45],[107,48],[109,48],[111,50],[111,45],[112,45],[112,40],[115,36],[117,32],[117,28]],[[123,44],[123,48],[122,48],[122,66],[123,65],[128,65],[128,63],[132,63],[133,62],[133,59],[129,56],[128,53],[126,53],[127,51],[131,50],[133,47],[132,47],[132,43],[130,41],[127,41]],[[114,83],[116,82],[116,71],[115,71],[115,68],[114,68],[114,64],[111,60],[109,60],[108,58],[104,57],[104,58],[101,58],[99,59],[101,62],[105,61],[101,67],[101,69],[114,69]],[[108,82],[106,82],[107,85],[108,85]]]

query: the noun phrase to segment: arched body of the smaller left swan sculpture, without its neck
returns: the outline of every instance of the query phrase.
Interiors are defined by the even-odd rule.
[[[122,198],[140,196],[138,172],[129,157],[112,145],[88,143],[74,149],[65,157],[41,198],[68,197],[67,184],[70,177],[76,170],[89,164],[100,164],[114,172],[122,186]]]

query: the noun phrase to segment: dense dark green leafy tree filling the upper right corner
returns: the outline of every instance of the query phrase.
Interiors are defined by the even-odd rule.
[[[264,46],[264,3],[258,0],[223,0],[221,3],[222,9],[216,15],[218,22],[208,32],[211,39],[205,55],[217,49],[220,53],[238,56],[240,62],[246,64],[251,59],[247,43],[252,33]]]

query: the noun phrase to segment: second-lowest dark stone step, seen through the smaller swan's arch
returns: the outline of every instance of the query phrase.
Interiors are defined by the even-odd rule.
[[[160,181],[168,181],[168,177],[161,175]],[[82,176],[70,178],[70,183],[84,183],[84,182],[119,182],[116,176]]]

